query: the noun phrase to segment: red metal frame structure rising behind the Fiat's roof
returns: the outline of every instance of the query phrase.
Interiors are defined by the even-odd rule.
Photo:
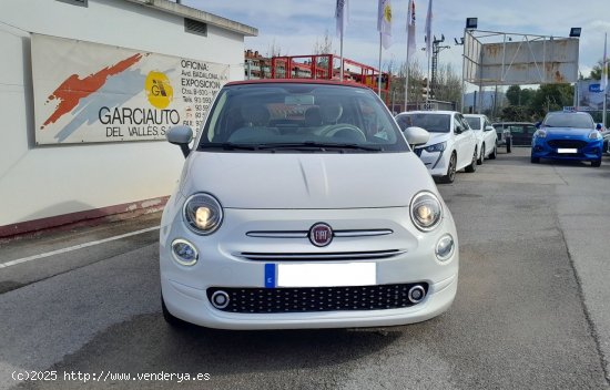
[[[334,54],[283,55],[271,59],[272,79],[339,80],[342,58]],[[349,59],[343,59],[344,80],[367,85],[378,91],[379,71]],[[382,73],[382,99],[389,101],[388,73]]]

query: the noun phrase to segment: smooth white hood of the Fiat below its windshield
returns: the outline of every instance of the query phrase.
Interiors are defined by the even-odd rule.
[[[415,153],[212,153],[189,156],[180,191],[207,192],[227,208],[364,208],[408,206],[438,195]]]

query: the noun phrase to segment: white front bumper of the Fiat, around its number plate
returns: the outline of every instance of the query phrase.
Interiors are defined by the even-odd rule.
[[[406,207],[338,211],[252,211],[225,209],[223,226],[212,236],[201,237],[184,227],[180,213],[172,207],[164,213],[160,233],[160,269],[163,299],[167,310],[189,322],[222,329],[296,329],[396,326],[423,321],[446,311],[456,295],[458,281],[458,242],[455,224],[445,207],[445,219],[434,232],[423,234],[410,223]],[[173,214],[173,215],[171,215]],[[324,220],[335,229],[389,228],[393,234],[376,237],[335,237],[324,248],[307,238],[268,238],[246,236],[253,230],[301,230]],[[438,239],[450,234],[455,252],[439,261],[434,248]],[[171,254],[175,238],[197,246],[200,260],[192,267],[181,266]],[[281,260],[282,254],[376,253],[400,249],[396,256],[297,261]],[[243,254],[272,253],[270,259],[251,259]],[[277,257],[277,255],[279,256]],[[288,256],[286,256],[288,257]],[[389,309],[322,310],[305,312],[233,312],[215,308],[210,299],[217,288],[255,290],[264,294],[266,269],[279,264],[354,264],[375,267],[375,285],[425,284],[427,294],[415,305]],[[373,287],[374,287],[373,286]],[[384,287],[385,288],[385,287]],[[242,294],[243,296],[243,294]],[[261,297],[256,297],[258,299]],[[315,302],[317,305],[317,302]]]

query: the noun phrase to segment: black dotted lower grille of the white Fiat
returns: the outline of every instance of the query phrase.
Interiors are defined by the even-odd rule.
[[[216,291],[224,291],[228,295],[228,305],[218,310],[240,314],[386,310],[416,305],[408,299],[408,291],[417,285],[427,294],[425,283],[315,288],[211,287],[207,299]]]

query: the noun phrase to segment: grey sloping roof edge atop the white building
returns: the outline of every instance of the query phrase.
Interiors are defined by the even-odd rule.
[[[126,1],[140,4],[140,6],[144,6],[144,7],[149,7],[161,12],[166,12],[179,17],[193,19],[211,25],[215,25],[221,29],[225,29],[228,31],[243,34],[244,37],[258,35],[258,29],[256,28],[242,24],[240,22],[225,19],[222,17],[215,16],[213,13],[201,11],[184,4],[179,4],[173,1],[169,1],[169,0],[126,0]]]

